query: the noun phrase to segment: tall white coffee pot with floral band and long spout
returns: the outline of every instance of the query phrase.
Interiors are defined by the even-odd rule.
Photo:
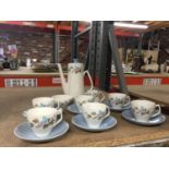
[[[84,71],[83,63],[74,62],[68,64],[68,81],[65,80],[62,67],[58,63],[59,73],[61,77],[62,88],[65,95],[76,97],[84,94],[84,75],[87,74],[90,82],[90,89],[93,89],[93,81],[88,71]]]

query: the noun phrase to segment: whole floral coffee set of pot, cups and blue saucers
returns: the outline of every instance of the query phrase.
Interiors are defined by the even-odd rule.
[[[88,71],[82,63],[68,64],[65,80],[61,64],[58,63],[63,95],[37,97],[32,100],[33,108],[23,112],[27,122],[19,124],[14,134],[21,140],[47,142],[64,135],[69,123],[64,121],[64,110],[74,116],[71,122],[88,132],[102,132],[117,125],[111,111],[122,112],[122,117],[138,125],[157,125],[165,122],[160,106],[149,100],[131,100],[122,93],[109,93],[93,87]],[[87,74],[90,87],[85,92],[84,75]]]

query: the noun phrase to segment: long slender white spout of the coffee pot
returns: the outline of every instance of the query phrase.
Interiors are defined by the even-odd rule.
[[[63,93],[65,95],[69,95],[69,84],[63,75],[63,71],[62,71],[62,67],[60,63],[58,63],[58,69],[59,69],[59,74],[60,74],[60,79],[61,79],[61,85],[62,85],[62,88],[63,88]]]

